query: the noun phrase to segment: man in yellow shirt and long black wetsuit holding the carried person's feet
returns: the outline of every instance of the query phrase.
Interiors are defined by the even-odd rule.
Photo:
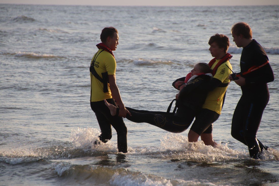
[[[112,51],[119,44],[118,31],[114,27],[106,27],[100,35],[99,49],[93,56],[90,65],[91,95],[90,106],[94,111],[101,130],[100,141],[106,143],[112,137],[111,126],[117,132],[117,148],[119,152],[127,152],[127,127],[122,117],[130,112],[125,108],[119,89],[116,85],[116,60]],[[119,115],[112,116],[104,99],[119,107]],[[116,104],[117,103],[117,104]],[[98,144],[97,141],[94,142]]]

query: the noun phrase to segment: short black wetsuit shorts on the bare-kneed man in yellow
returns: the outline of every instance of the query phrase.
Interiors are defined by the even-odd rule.
[[[196,119],[191,127],[191,130],[199,135],[205,133],[207,130],[207,133],[212,133],[212,123],[214,123],[219,116],[220,115],[215,111],[201,109],[196,115]]]

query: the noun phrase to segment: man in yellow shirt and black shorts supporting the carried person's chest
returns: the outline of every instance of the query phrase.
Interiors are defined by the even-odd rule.
[[[215,146],[216,142],[213,141],[212,135],[213,122],[221,114],[225,93],[230,83],[229,75],[232,66],[229,59],[232,58],[232,55],[227,53],[230,41],[226,35],[215,34],[211,36],[208,44],[212,57],[215,57],[209,63],[213,70],[213,78],[205,90],[209,91],[208,95],[202,109],[196,114],[196,119],[188,133],[188,140],[189,142],[196,142],[201,136],[205,145]]]

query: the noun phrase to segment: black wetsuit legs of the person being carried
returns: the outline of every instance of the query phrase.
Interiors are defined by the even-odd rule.
[[[179,133],[185,131],[189,125],[191,125],[195,111],[187,109],[187,112],[183,112],[184,109],[177,109],[177,113],[180,114],[169,114],[166,112],[137,112],[136,109],[129,109],[131,116],[126,115],[126,118],[135,123],[149,123],[156,127],[162,128],[163,130]],[[160,114],[158,114],[160,113]],[[183,117],[181,117],[184,113]]]

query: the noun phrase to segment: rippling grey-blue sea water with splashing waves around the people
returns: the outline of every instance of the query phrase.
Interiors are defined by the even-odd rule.
[[[111,7],[0,4],[0,185],[278,185],[279,6]],[[258,131],[263,160],[230,135],[241,96],[232,82],[214,123],[218,147],[124,119],[128,153],[117,135],[95,147],[89,65],[102,28],[119,31],[116,79],[126,106],[166,111],[171,84],[212,59],[209,38],[230,38],[233,71],[242,48],[230,28],[247,22],[275,74]]]

